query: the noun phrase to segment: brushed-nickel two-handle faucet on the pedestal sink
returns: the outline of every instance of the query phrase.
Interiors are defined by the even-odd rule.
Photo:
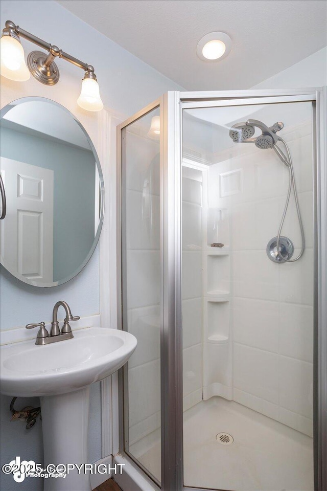
[[[58,322],[58,308],[60,307],[60,305],[65,309],[66,312],[66,317],[64,319],[64,324],[61,330]],[[56,303],[56,305],[53,308],[50,334],[48,330],[46,330],[44,322],[40,322],[39,324],[27,324],[27,326],[25,327],[27,329],[32,329],[33,327],[40,327],[37,333],[35,344],[44,345],[49,343],[56,343],[57,341],[64,341],[65,339],[74,338],[72,328],[69,325],[69,322],[78,321],[79,319],[80,319],[79,316],[75,316],[75,317],[72,316],[72,312],[71,309],[69,308],[69,305],[63,300],[60,300],[59,302]]]

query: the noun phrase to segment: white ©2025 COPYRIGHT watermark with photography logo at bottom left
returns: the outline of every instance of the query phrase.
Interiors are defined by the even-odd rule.
[[[48,464],[45,468],[34,460],[21,460],[19,456],[15,460],[4,464],[1,470],[4,474],[12,474],[16,482],[22,482],[26,477],[43,477],[45,479],[62,478],[69,473],[77,471],[77,474],[123,474],[123,465],[114,464]]]

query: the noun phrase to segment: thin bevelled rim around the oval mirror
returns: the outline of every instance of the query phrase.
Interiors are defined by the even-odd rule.
[[[93,253],[97,247],[97,244],[98,244],[98,241],[100,238],[100,234],[101,234],[101,230],[102,230],[103,218],[104,218],[104,205],[105,205],[104,180],[103,180],[103,173],[102,173],[98,153],[97,153],[96,148],[95,148],[94,144],[92,143],[92,140],[90,139],[86,129],[84,128],[82,123],[77,119],[77,117],[73,113],[71,113],[71,111],[69,111],[65,106],[63,106],[62,104],[59,104],[59,102],[53,101],[52,99],[47,99],[45,97],[37,97],[37,96],[22,97],[20,99],[16,99],[16,100],[6,104],[4,107],[1,108],[0,120],[2,120],[2,118],[8,113],[8,111],[10,111],[10,109],[17,106],[18,104],[22,104],[24,102],[33,102],[33,101],[35,101],[35,102],[48,102],[48,103],[54,104],[54,105],[60,107],[61,109],[63,109],[65,111],[65,113],[67,113],[69,116],[71,116],[75,120],[75,122],[82,129],[85,137],[87,138],[90,149],[91,149],[92,153],[94,154],[96,166],[97,166],[98,173],[99,173],[99,183],[100,183],[100,216],[99,216],[98,230],[97,230],[94,241],[92,242],[92,245],[90,247],[90,250],[89,250],[87,256],[85,257],[84,261],[80,264],[78,269],[74,271],[74,273],[72,273],[71,275],[69,275],[69,276],[67,276],[67,277],[65,277],[59,281],[54,281],[52,283],[38,284],[36,281],[25,278],[25,276],[20,275],[17,271],[14,271],[10,267],[7,267],[5,264],[3,264],[2,260],[1,260],[1,265],[4,267],[4,269],[6,271],[8,271],[12,276],[14,276],[17,280],[21,281],[22,283],[26,283],[26,284],[32,285],[32,286],[37,286],[40,288],[44,288],[44,287],[51,288],[54,286],[63,285],[64,283],[67,283],[68,281],[75,278],[75,276],[77,276],[84,269],[84,267],[86,266],[86,264],[88,263],[88,261],[92,257],[92,255],[93,255]],[[7,205],[7,207],[8,207],[8,205]]]

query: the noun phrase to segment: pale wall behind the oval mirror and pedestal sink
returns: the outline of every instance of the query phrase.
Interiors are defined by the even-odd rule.
[[[4,0],[1,3],[1,17],[3,23],[7,19],[12,20],[25,30],[57,44],[59,48],[82,61],[93,64],[106,109],[131,115],[162,93],[181,88],[52,0],[47,2]],[[22,44],[26,54],[37,49],[28,41],[22,40]],[[60,81],[53,87],[42,85],[33,77],[24,83],[12,82],[2,77],[1,107],[15,99],[28,96],[46,97],[63,104],[82,122],[100,155],[100,161],[104,160],[106,155],[101,153],[101,145],[106,137],[106,131],[109,131],[102,125],[105,118],[102,118],[101,114],[84,111],[76,103],[83,72],[63,60],[58,60],[58,66]],[[112,145],[114,141],[109,142],[109,148]],[[108,189],[109,183],[105,185]],[[108,231],[104,230],[103,233]],[[28,322],[49,321],[53,306],[59,299],[66,300],[78,315],[98,314],[99,250],[96,249],[89,263],[75,279],[60,287],[42,289],[21,284],[3,271],[1,293],[2,319],[4,319],[2,329],[23,326]],[[17,399],[16,406],[24,407],[27,402],[26,399]],[[1,464],[15,458],[16,455],[42,462],[40,423],[38,422],[30,431],[24,430],[20,422],[10,423],[9,404],[9,397],[1,397],[3,409],[1,428],[4,445]],[[38,405],[38,399],[34,399],[32,404]],[[95,385],[91,391],[90,461],[102,457],[100,407],[100,388]],[[4,489],[8,491],[21,489],[21,485],[15,483],[12,476],[6,477],[2,474],[1,477]],[[42,482],[37,482],[35,479],[29,485],[31,491],[42,489]],[[25,489],[29,491],[28,487]]]

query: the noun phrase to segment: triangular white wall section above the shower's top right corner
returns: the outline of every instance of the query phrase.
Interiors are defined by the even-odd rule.
[[[298,88],[327,85],[327,47],[251,88]]]

